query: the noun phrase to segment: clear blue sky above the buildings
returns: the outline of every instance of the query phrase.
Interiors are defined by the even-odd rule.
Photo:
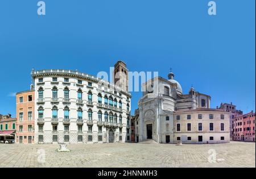
[[[30,88],[31,68],[109,72],[118,59],[132,71],[170,68],[184,93],[193,84],[211,107],[255,110],[255,1],[225,0],[208,15],[205,0],[0,2],[0,114],[15,115],[11,93]],[[132,93],[132,110],[142,93]]]

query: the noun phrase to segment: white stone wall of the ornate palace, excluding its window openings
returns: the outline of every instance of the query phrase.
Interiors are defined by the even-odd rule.
[[[67,76],[66,76],[67,75]],[[69,136],[68,143],[78,143],[78,136],[82,135],[82,143],[98,143],[98,142],[109,142],[109,130],[114,131],[114,141],[119,142],[119,136],[122,136],[121,142],[127,140],[126,127],[127,118],[130,116],[130,109],[127,111],[127,104],[130,103],[130,95],[125,95],[120,92],[114,94],[114,91],[109,88],[109,86],[101,86],[96,81],[89,80],[88,78],[81,78],[78,76],[69,76],[67,73],[65,76],[60,73],[50,73],[41,74],[40,76],[35,76],[35,143],[39,143],[39,136],[43,136],[43,143],[53,143],[53,135],[57,135],[57,141],[59,143],[64,142],[64,136]],[[53,82],[52,77],[57,77],[57,81]],[[39,82],[39,78],[43,78],[43,82]],[[69,82],[64,82],[64,78],[69,78]],[[78,84],[78,80],[82,80],[82,84]],[[89,86],[88,82],[92,82],[92,86]],[[52,102],[52,89],[57,88],[57,102]],[[64,89],[69,89],[69,102],[64,102]],[[38,90],[43,88],[43,102],[39,102]],[[77,103],[77,91],[82,90],[82,103]],[[92,103],[88,103],[88,93],[92,93]],[[98,94],[102,95],[102,104],[98,104]],[[117,101],[122,101],[122,109],[114,109],[114,107],[109,107],[104,105],[104,96],[107,95],[117,98]],[[128,98],[127,98],[128,97]],[[57,107],[57,132],[53,132],[52,126],[52,109],[53,106]],[[64,131],[64,108],[69,108],[69,131]],[[38,109],[43,107],[43,131],[39,131],[39,116]],[[79,107],[82,109],[82,123],[77,122],[77,110]],[[92,124],[89,124],[88,111],[92,110]],[[98,124],[98,111],[102,112],[102,124]],[[108,127],[108,123],[104,123],[104,113],[108,114],[112,112],[117,114],[117,116],[122,115],[122,124],[117,123]],[[78,126],[82,126],[82,132],[78,131]],[[102,132],[99,133],[98,127],[102,125]],[[88,131],[88,126],[92,126],[92,132]],[[119,133],[119,128],[121,128],[121,133]],[[92,136],[92,141],[89,141],[90,136]],[[102,136],[102,141],[98,141],[98,136]],[[128,137],[130,138],[130,136]]]

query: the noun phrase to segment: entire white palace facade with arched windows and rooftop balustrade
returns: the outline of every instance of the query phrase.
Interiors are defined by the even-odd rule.
[[[118,61],[115,72],[127,74]],[[114,73],[115,73],[114,72]],[[126,76],[125,76],[126,77]],[[32,71],[35,143],[112,143],[130,140],[131,94],[72,70]]]

